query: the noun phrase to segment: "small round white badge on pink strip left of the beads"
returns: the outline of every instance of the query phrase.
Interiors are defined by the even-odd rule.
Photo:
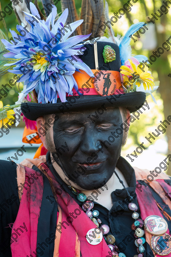
[[[89,244],[100,244],[103,239],[103,234],[99,228],[90,229],[86,234],[86,239]]]

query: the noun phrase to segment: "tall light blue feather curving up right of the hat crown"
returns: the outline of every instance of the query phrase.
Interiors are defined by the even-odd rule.
[[[139,30],[139,28],[142,27],[143,24],[144,22],[132,24],[126,32],[125,36],[122,38],[119,44],[121,65],[124,65],[125,61],[131,57],[131,47],[129,45],[131,38],[129,36]]]

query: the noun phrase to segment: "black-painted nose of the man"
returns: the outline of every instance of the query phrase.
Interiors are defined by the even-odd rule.
[[[85,128],[85,131],[82,135],[80,150],[87,154],[99,151],[97,148],[99,144],[97,135],[98,132],[95,128]]]

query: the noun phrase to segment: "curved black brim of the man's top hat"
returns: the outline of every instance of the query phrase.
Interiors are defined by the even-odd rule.
[[[113,98],[109,96],[100,95],[82,95],[79,99],[75,98],[75,103],[57,102],[57,103],[21,103],[21,110],[27,119],[36,121],[40,116],[47,114],[59,114],[65,112],[74,112],[78,110],[92,110],[98,109],[104,104],[104,107],[115,107],[123,106],[126,107],[130,113],[136,111],[139,106],[141,106],[146,99],[146,94],[144,92],[129,92],[121,95],[112,95]],[[69,97],[67,97],[69,98]],[[108,100],[107,100],[108,99]],[[110,100],[110,101],[109,101]]]

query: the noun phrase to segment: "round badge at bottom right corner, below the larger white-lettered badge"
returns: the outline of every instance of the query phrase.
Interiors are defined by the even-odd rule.
[[[171,241],[167,241],[165,239],[166,236],[168,236],[167,238],[170,237],[167,233],[151,237],[151,248],[153,248],[158,255],[168,255],[171,253]]]

